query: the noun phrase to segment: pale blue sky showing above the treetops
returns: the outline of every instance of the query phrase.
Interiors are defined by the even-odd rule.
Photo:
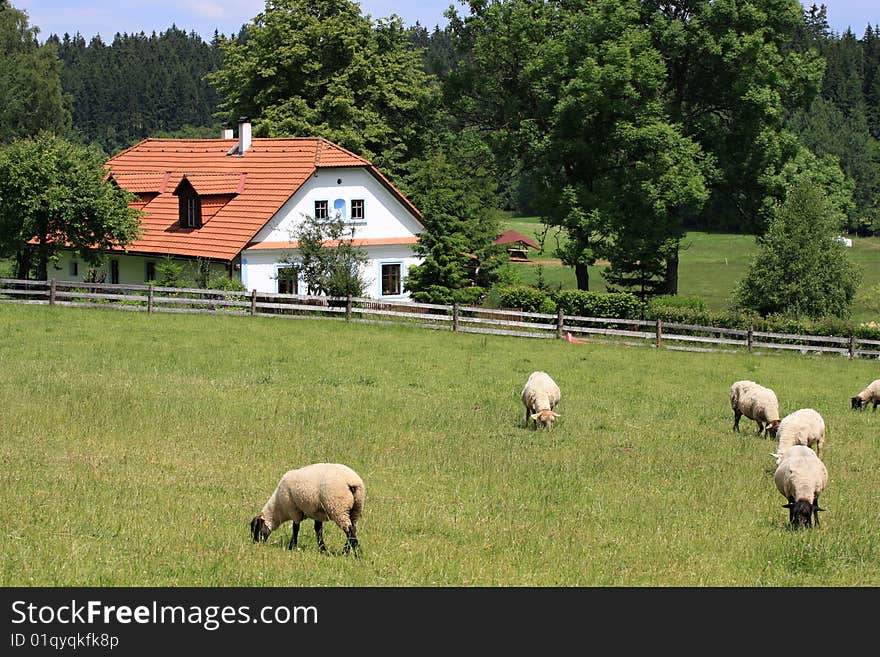
[[[195,31],[206,41],[214,31],[236,34],[265,7],[264,0],[12,0],[12,6],[27,12],[32,27],[40,28],[40,40],[51,34],[79,32],[86,41],[99,34],[105,43],[119,33],[163,32],[172,24],[186,32]],[[372,18],[397,14],[406,26],[420,23],[429,30],[446,25],[443,12],[454,5],[466,13],[459,0],[361,0],[361,12]],[[812,0],[802,0],[809,6]],[[828,9],[828,23],[837,33],[848,27],[858,38],[865,27],[880,25],[880,0],[819,0]]]

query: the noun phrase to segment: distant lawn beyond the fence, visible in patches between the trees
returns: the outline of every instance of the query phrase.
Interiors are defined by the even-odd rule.
[[[542,234],[544,225],[537,217],[515,217],[502,222],[502,230],[513,229],[535,238]],[[550,290],[575,289],[577,281],[574,269],[560,263],[553,255],[556,249],[558,229],[550,229],[544,243],[543,253],[529,249],[530,262],[511,262],[509,267],[517,280],[534,285],[538,280],[536,269],[540,267],[545,284]],[[560,237],[564,240],[564,237]],[[880,302],[870,300],[866,294],[876,291],[869,288],[880,285],[880,237],[851,237],[853,245],[847,249],[851,262],[862,268],[862,281],[853,302],[852,317],[857,322],[880,321]],[[682,240],[679,252],[679,289],[683,296],[702,297],[706,307],[713,311],[727,310],[733,289],[745,276],[757,244],[752,235],[735,233],[688,232]],[[590,289],[606,290],[602,277],[604,266],[590,267]]]

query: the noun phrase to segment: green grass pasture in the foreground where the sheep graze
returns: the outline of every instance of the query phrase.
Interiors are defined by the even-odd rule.
[[[309,319],[0,304],[3,586],[878,586],[876,362]],[[519,393],[562,388],[552,432]],[[825,417],[822,526],[787,528],[731,382]],[[366,482],[361,558],[255,545],[288,469]]]

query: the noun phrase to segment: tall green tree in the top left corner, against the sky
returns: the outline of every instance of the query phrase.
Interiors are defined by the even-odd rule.
[[[40,46],[27,14],[0,0],[0,144],[40,130],[59,134],[70,124],[61,91],[61,61]]]

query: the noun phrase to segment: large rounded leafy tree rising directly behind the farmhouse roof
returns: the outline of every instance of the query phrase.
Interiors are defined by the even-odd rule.
[[[277,0],[246,38],[218,43],[208,80],[254,135],[325,137],[394,177],[418,156],[438,92],[399,17],[374,25],[349,0]]]

